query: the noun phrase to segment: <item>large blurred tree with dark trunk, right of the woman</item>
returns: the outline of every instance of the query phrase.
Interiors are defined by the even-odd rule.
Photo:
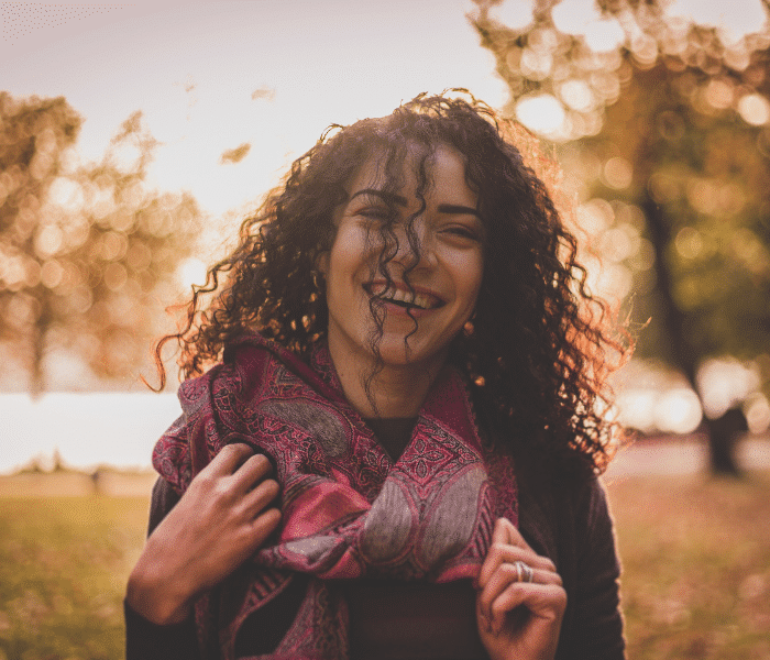
[[[767,384],[767,0],[746,35],[667,14],[662,0],[474,1],[506,110],[560,145],[579,224],[607,264],[595,288],[631,294],[636,319],[651,318],[642,354],[696,392],[698,366],[726,353],[756,360]],[[717,472],[738,472],[721,421],[736,403],[704,405]]]

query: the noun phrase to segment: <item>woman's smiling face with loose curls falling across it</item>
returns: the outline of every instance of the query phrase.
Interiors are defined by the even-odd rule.
[[[476,212],[476,195],[465,183],[462,155],[439,146],[428,169],[426,209],[413,224],[420,258],[408,272],[407,286],[404,272],[414,264],[415,255],[405,223],[420,209],[417,156],[410,150],[404,163],[404,186],[388,195],[377,155],[350,179],[348,201],[334,213],[333,244],[319,261],[327,280],[329,344],[336,354],[371,361],[369,338],[375,322],[370,300],[380,296],[384,298],[384,334],[378,349],[385,365],[436,367],[473,314],[481,287],[484,226]],[[378,230],[392,212],[388,199],[397,213],[393,231],[398,241],[398,252],[386,265],[391,286],[376,268],[382,251]]]

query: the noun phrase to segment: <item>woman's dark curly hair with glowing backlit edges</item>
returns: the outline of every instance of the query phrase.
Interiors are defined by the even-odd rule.
[[[421,145],[426,158],[449,145],[465,157],[487,237],[473,329],[455,338],[449,360],[469,375],[475,405],[498,429],[496,442],[553,466],[604,471],[614,430],[603,415],[612,403],[606,377],[630,349],[617,339],[607,305],[586,289],[575,238],[512,144],[510,122],[453,91],[465,98],[420,95],[385,118],[330,127],[294,162],[285,184],[241,226],[235,250],[209,270],[206,285],[194,287],[184,328],[158,342],[162,387],[161,350],[172,340],[182,349],[184,377],[222,360],[249,331],[307,359],[327,333],[316,264],[331,249],[345,184],[376,151],[386,154],[387,185],[397,188],[409,145]],[[427,185],[425,162],[419,175],[418,197]],[[384,246],[373,267],[388,277],[395,234],[388,223],[381,231]],[[419,244],[409,242],[418,258]],[[376,304],[372,312],[382,330]]]

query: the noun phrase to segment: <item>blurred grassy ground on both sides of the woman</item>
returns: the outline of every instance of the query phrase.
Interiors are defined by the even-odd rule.
[[[634,476],[608,492],[629,659],[770,660],[770,472]],[[0,660],[122,658],[146,512],[146,497],[0,496]]]

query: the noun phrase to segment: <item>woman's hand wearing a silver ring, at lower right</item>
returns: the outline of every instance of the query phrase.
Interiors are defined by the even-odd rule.
[[[537,554],[505,518],[495,522],[479,587],[479,636],[493,660],[552,660],[566,592],[553,562]]]

